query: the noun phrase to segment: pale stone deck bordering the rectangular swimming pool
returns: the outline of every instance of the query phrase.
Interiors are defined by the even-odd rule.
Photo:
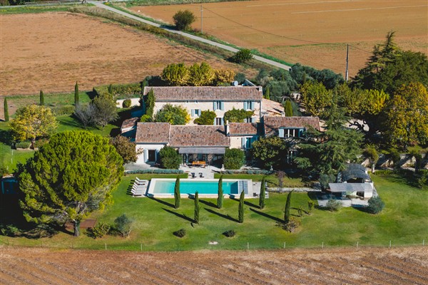
[[[146,192],[146,197],[156,197],[156,198],[173,198],[174,193],[153,193],[153,190],[156,187],[157,181],[175,181],[175,179],[168,179],[168,178],[153,178],[151,182],[148,185],[148,190]],[[203,182],[218,182],[218,179],[207,179],[207,178],[189,178],[189,179],[181,179],[180,182],[185,181],[203,181]],[[260,182],[253,182],[253,180],[236,180],[236,179],[223,179],[223,182],[237,182],[237,181],[245,181],[247,182],[247,188],[248,191],[245,193],[244,198],[254,198],[258,197],[260,194]],[[225,194],[225,198],[239,198],[240,192],[238,194]],[[180,194],[180,197],[182,198],[189,198],[193,197],[191,194]],[[203,198],[217,198],[217,193],[215,194],[199,194],[199,197]]]

